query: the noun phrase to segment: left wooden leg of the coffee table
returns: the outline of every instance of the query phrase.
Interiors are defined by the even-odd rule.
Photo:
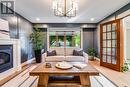
[[[38,87],[47,87],[48,78],[49,77],[47,75],[40,75],[38,80]]]

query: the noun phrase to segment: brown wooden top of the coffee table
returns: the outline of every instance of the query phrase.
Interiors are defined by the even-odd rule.
[[[36,67],[34,70],[30,72],[31,76],[39,76],[42,74],[48,74],[48,75],[79,75],[79,74],[88,74],[88,75],[99,75],[99,72],[91,66],[89,63],[87,63],[87,66],[78,69],[76,67],[72,67],[71,69],[62,70],[55,67],[55,64],[57,62],[49,62],[51,63],[51,68],[46,68],[45,63],[39,64],[38,67]],[[76,62],[69,62],[71,64],[74,64]]]

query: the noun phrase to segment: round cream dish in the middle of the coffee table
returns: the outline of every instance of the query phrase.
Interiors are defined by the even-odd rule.
[[[68,63],[68,62],[66,62],[66,61],[58,62],[58,63],[56,63],[55,66],[56,66],[57,68],[59,68],[59,69],[70,69],[70,68],[73,67],[72,64],[70,64],[70,63]]]

